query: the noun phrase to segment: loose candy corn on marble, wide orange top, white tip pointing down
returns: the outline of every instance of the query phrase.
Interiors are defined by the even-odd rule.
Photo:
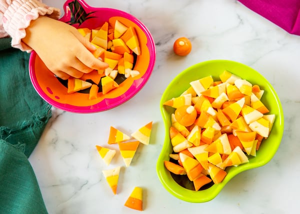
[[[118,142],[117,144],[119,146],[124,163],[126,167],[128,167],[138,147],[139,141]]]

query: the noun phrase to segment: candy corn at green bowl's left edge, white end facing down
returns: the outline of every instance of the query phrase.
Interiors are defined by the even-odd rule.
[[[170,139],[174,152],[179,152],[192,146],[192,143],[172,126],[170,126]]]

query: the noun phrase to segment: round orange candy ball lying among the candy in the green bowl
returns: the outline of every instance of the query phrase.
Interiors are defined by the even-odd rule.
[[[178,107],[175,112],[175,119],[184,126],[190,126],[197,117],[197,111],[192,105],[183,105]]]

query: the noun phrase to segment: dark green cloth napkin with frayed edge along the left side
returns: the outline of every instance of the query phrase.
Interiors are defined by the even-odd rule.
[[[34,90],[29,54],[0,39],[0,213],[47,213],[28,157],[51,116]]]

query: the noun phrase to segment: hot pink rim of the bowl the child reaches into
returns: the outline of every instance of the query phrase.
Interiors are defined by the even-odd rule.
[[[61,21],[68,21],[69,20],[69,16],[70,16],[70,12],[68,8],[68,3],[74,1],[74,0],[66,0],[63,4],[63,9],[64,9],[64,14],[63,16],[61,16],[59,18],[59,20]],[[127,89],[127,91],[125,91],[125,95],[121,94],[120,96],[114,97],[114,98],[104,98],[103,100],[93,104],[93,105],[87,105],[87,106],[76,106],[76,105],[72,105],[69,103],[61,103],[58,101],[55,101],[53,98],[49,97],[44,90],[40,87],[40,85],[38,84],[38,81],[35,77],[35,70],[34,70],[34,61],[36,59],[36,52],[34,50],[31,51],[30,56],[29,56],[29,77],[31,79],[32,85],[34,87],[34,89],[36,90],[36,92],[49,104],[53,105],[54,107],[57,107],[61,110],[65,110],[65,111],[69,111],[69,112],[73,112],[73,113],[94,113],[94,112],[100,112],[100,111],[105,111],[105,110],[109,110],[111,108],[117,107],[123,103],[125,103],[126,101],[128,101],[130,98],[132,98],[135,94],[137,94],[142,88],[143,86],[146,84],[146,82],[148,81],[148,79],[150,78],[150,75],[153,71],[154,65],[155,65],[155,60],[156,60],[156,47],[155,47],[155,42],[154,39],[149,31],[149,29],[135,16],[119,10],[119,9],[114,9],[114,8],[108,8],[108,7],[92,7],[89,6],[84,0],[75,0],[77,2],[79,2],[86,11],[101,11],[101,10],[108,10],[108,11],[114,11],[120,14],[120,16],[125,17],[126,19],[134,22],[145,34],[145,36],[147,37],[147,43],[146,46],[148,48],[149,51],[149,64],[148,67],[145,71],[145,73],[140,77],[142,78],[141,83],[138,83],[138,86],[132,86],[134,84],[134,82],[138,82],[138,79],[133,80],[132,85]],[[109,101],[109,104],[107,104],[107,100]],[[103,104],[101,104],[103,103]],[[100,105],[101,106],[97,106]],[[103,105],[103,106],[102,106]],[[92,106],[92,107],[91,107]]]

